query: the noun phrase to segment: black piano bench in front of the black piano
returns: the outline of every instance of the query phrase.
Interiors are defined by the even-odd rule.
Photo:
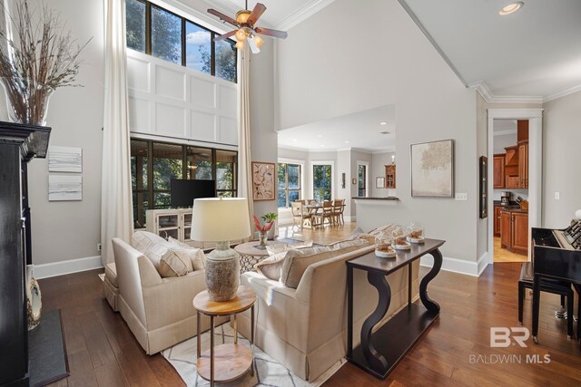
[[[561,306],[563,297],[566,297],[566,335],[573,337],[573,289],[571,283],[556,279],[541,278],[541,292],[561,295]],[[525,289],[533,288],[533,265],[530,262],[523,262],[520,267],[520,278],[518,279],[518,324],[523,324],[523,301],[525,299]]]

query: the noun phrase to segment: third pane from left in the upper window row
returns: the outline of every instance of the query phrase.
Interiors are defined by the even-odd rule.
[[[185,22],[185,65],[198,72],[211,72],[212,33],[191,22]]]

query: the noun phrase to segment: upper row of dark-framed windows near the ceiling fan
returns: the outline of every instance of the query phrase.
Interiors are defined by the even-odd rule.
[[[127,47],[188,69],[237,81],[235,42],[146,0],[126,0]]]

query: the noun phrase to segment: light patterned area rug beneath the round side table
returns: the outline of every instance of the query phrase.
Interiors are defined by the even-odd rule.
[[[234,341],[234,330],[228,323],[217,326],[214,334],[214,343],[216,345],[222,343],[233,343]],[[248,340],[240,334],[238,337],[238,343],[250,347]],[[166,349],[162,352],[162,355],[172,364],[173,368],[175,368],[180,374],[183,382],[185,382],[188,387],[209,386],[210,382],[203,380],[198,376],[198,372],[196,372],[196,347],[197,338],[192,337],[185,342],[178,343],[173,345],[171,348]],[[202,349],[207,350],[208,348],[210,348],[210,331],[202,334]],[[254,346],[254,361],[256,364],[256,372],[254,372],[254,376],[251,376],[250,372],[248,372],[234,382],[216,383],[216,385],[237,387],[316,387],[327,381],[327,379],[329,379],[333,373],[337,372],[341,365],[346,362],[345,359],[341,359],[329,370],[320,375],[316,381],[306,382],[291,371],[287,370],[283,365],[281,365],[281,363],[272,359],[271,356],[263,353],[261,349],[256,346]]]

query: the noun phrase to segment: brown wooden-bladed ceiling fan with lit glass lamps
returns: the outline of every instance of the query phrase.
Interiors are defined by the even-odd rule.
[[[218,16],[223,22],[232,24],[237,29],[229,33],[216,36],[214,42],[220,42],[233,35],[236,35],[236,48],[241,50],[244,47],[244,42],[248,42],[252,53],[260,53],[261,45],[264,41],[259,35],[272,36],[275,38],[286,39],[287,33],[284,31],[272,30],[270,28],[262,28],[256,25],[258,19],[266,11],[266,6],[261,3],[254,5],[254,9],[248,10],[248,0],[246,0],[246,9],[242,9],[236,13],[236,18],[224,15],[215,9],[209,9],[208,13]]]

